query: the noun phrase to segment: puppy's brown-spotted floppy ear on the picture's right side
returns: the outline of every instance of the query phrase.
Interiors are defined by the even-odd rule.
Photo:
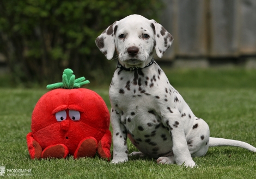
[[[172,45],[173,36],[168,33],[166,29],[162,27],[161,24],[157,23],[155,20],[150,20],[150,26],[153,28],[155,36],[155,50],[157,56],[160,58],[163,56],[164,52]]]

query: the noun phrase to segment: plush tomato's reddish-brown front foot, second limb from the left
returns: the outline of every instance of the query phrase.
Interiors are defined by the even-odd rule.
[[[69,149],[64,144],[56,144],[47,146],[42,151],[42,158],[66,158],[69,154]]]

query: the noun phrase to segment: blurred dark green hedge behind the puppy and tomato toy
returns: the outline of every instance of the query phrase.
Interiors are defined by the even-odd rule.
[[[50,84],[71,68],[99,84],[115,62],[100,53],[96,37],[130,14],[157,20],[162,7],[159,0],[1,0],[0,53],[14,83]]]

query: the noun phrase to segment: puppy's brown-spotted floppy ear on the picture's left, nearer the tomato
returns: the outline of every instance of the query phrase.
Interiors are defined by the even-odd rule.
[[[115,52],[115,32],[118,28],[118,21],[115,21],[112,25],[101,33],[96,39],[96,45],[100,51],[107,57],[108,60],[111,60]]]

